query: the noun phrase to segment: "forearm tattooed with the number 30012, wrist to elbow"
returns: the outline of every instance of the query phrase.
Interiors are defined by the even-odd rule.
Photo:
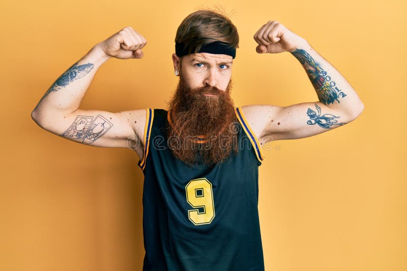
[[[364,108],[353,87],[306,41],[291,52],[303,65],[318,99],[329,108],[357,117]]]

